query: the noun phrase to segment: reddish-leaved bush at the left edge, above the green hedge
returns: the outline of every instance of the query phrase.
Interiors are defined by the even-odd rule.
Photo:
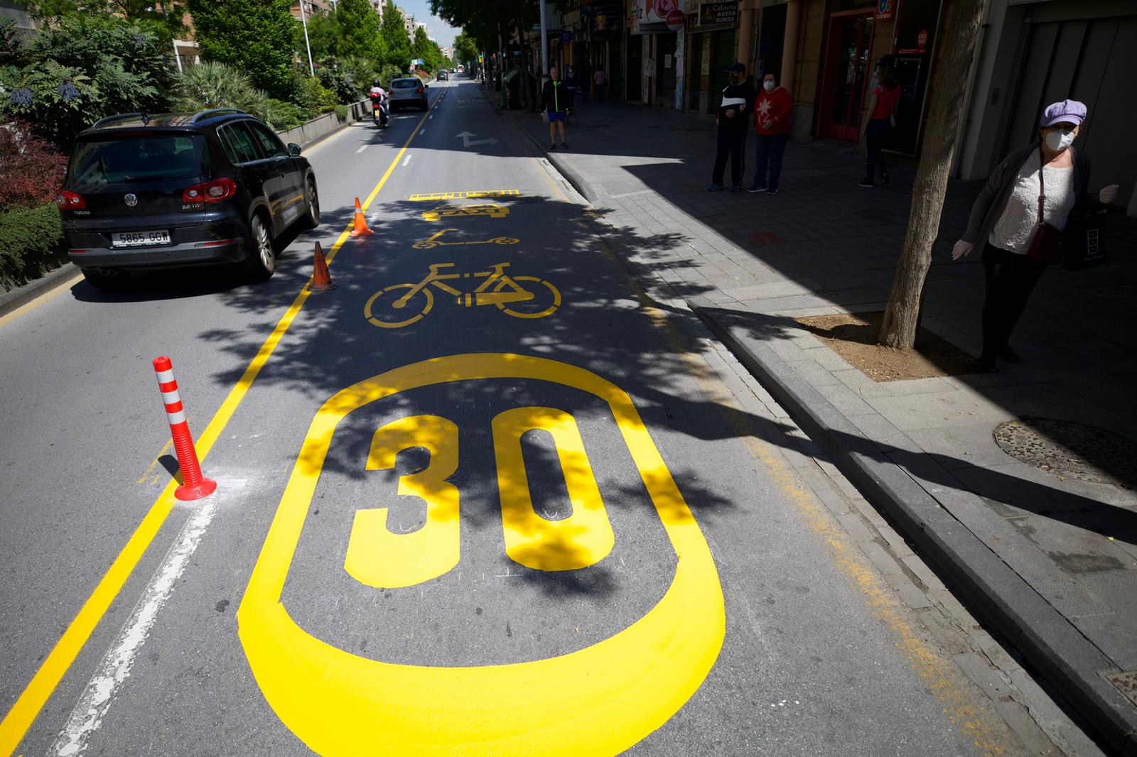
[[[67,159],[23,122],[0,124],[0,213],[55,200]]]

